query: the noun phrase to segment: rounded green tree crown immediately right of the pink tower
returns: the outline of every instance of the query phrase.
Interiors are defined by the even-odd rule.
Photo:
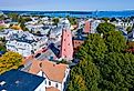
[[[83,59],[90,54],[94,60],[99,61],[104,58],[106,51],[107,48],[103,38],[101,38],[100,34],[90,34],[84,44],[80,48],[76,57]]]

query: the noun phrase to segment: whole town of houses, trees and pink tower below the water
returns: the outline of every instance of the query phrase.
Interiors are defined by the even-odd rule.
[[[0,12],[0,91],[134,91],[134,16]]]

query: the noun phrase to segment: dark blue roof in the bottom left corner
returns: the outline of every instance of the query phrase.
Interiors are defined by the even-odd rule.
[[[43,80],[44,78],[34,74],[10,70],[0,75],[0,91],[33,91]]]

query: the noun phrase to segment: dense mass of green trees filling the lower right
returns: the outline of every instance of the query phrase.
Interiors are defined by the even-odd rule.
[[[113,29],[103,37],[90,34],[76,54],[81,61],[71,70],[69,91],[134,91],[134,55],[126,48]]]

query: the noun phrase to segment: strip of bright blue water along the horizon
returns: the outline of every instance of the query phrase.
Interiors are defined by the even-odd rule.
[[[78,17],[78,18],[86,18],[86,17],[97,17],[97,18],[112,18],[112,17],[132,17],[134,16],[134,10],[126,11],[2,11],[3,13],[19,13],[19,14],[34,14],[34,16],[50,16],[50,17]]]

